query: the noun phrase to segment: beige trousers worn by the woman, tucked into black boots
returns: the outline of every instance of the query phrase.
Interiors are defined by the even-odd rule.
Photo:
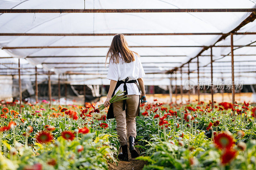
[[[132,136],[135,138],[137,135],[135,118],[139,113],[138,105],[140,97],[139,95],[127,95],[127,97],[130,97],[130,99],[126,100],[126,112],[123,110],[123,101],[113,103],[116,131],[121,146],[127,144],[127,134],[128,137]]]

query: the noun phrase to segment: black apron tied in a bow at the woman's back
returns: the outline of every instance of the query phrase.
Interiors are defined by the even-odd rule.
[[[130,80],[128,81],[128,77],[125,79],[125,81],[123,80],[118,80],[117,83],[116,83],[116,87],[114,89],[114,92],[112,94],[111,97],[113,97],[115,95],[115,92],[116,92],[116,89],[121,85],[121,84],[124,84],[124,95],[127,95],[128,92],[127,92],[127,85],[126,83],[135,83],[139,89],[139,86],[138,86],[138,83],[136,80]],[[140,98],[140,97],[139,97]],[[123,100],[123,110],[125,110],[125,106],[126,106],[126,100]],[[138,113],[138,116],[140,115],[140,100],[139,100],[139,105],[138,105],[138,110],[139,110],[139,113]],[[108,114],[107,114],[107,119],[112,119],[112,118],[115,118],[114,116],[114,109],[113,109],[113,103],[111,103],[109,105],[109,108],[108,108]]]

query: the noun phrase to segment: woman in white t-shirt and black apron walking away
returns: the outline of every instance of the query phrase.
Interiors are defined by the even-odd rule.
[[[140,56],[128,48],[127,41],[123,34],[116,34],[108,49],[109,57],[108,76],[110,87],[104,106],[108,107],[107,118],[116,118],[116,130],[121,144],[122,152],[118,154],[118,159],[128,161],[127,135],[129,137],[129,150],[132,158],[139,156],[135,149],[134,140],[136,138],[135,118],[140,113],[140,99],[146,102],[145,86],[143,76],[145,72],[140,62]],[[141,89],[141,96],[137,81]],[[118,90],[125,91],[129,99],[110,104],[109,100]],[[126,132],[127,129],[127,132]]]

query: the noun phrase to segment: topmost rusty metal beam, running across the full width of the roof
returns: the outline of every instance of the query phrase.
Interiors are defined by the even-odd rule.
[[[0,13],[123,13],[123,12],[256,12],[254,8],[228,9],[0,9]]]

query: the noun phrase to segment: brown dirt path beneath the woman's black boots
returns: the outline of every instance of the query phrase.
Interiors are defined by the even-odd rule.
[[[138,148],[137,148],[138,150]],[[145,165],[146,161],[143,160],[136,160],[131,157],[131,153],[129,152],[128,147],[128,154],[129,154],[129,161],[122,161],[118,163],[118,166],[114,163],[108,163],[109,170],[141,170]]]

